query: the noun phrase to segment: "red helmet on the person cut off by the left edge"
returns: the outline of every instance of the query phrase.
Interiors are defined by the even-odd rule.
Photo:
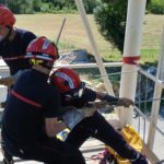
[[[0,25],[12,27],[15,24],[13,12],[3,4],[0,4]]]

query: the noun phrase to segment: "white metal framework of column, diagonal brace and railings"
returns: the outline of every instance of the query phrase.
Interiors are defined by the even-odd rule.
[[[87,36],[90,38],[91,46],[93,48],[97,65],[96,63],[70,65],[70,66],[65,66],[65,67],[70,67],[70,68],[95,68],[95,67],[98,67],[101,74],[102,74],[102,79],[104,80],[104,83],[105,83],[105,86],[106,86],[108,93],[113,94],[112,85],[108,80],[108,75],[105,71],[105,67],[120,66],[121,63],[113,62],[113,63],[104,63],[103,65],[103,61],[101,59],[101,56],[99,56],[97,47],[96,47],[95,39],[93,37],[91,27],[89,25],[89,21],[86,17],[85,10],[83,8],[82,0],[74,0],[74,1],[78,5],[79,12],[81,14],[84,26],[86,28]],[[124,57],[140,56],[140,45],[141,45],[141,35],[142,35],[142,24],[143,24],[144,11],[145,11],[145,2],[147,2],[147,0],[129,0]],[[164,54],[162,54],[162,55],[164,56]],[[164,66],[163,58],[162,58],[162,61],[163,62],[159,68],[162,68],[162,66]],[[57,66],[57,67],[59,68],[59,67],[63,67],[63,66]],[[134,99],[138,70],[139,70],[139,68],[137,65],[126,63],[122,66],[120,96],[126,96],[126,97]],[[163,89],[163,82],[159,80],[159,75],[155,78],[142,70],[139,70],[139,71],[141,73],[143,73],[144,75],[149,77],[150,79],[152,79],[156,83],[154,98],[160,98],[161,91]],[[0,72],[8,72],[8,68],[7,67],[0,68]],[[129,72],[129,73],[125,73],[125,72]],[[162,79],[162,80],[164,80],[164,79]],[[4,87],[3,87],[3,91],[4,91]],[[154,134],[155,134],[154,124],[156,124],[159,108],[160,108],[160,106],[159,106],[160,101],[154,101],[154,102],[156,102],[156,104],[154,103],[154,105],[153,105],[152,120],[151,120],[150,133],[149,133],[150,148],[152,148],[153,142],[154,142]],[[126,122],[131,121],[132,110],[129,112],[129,114],[128,114],[130,117],[127,117],[128,115],[127,114],[125,115],[124,112],[121,114],[122,115],[120,117],[120,120],[124,120]]]

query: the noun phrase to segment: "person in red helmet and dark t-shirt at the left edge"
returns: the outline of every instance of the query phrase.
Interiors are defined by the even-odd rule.
[[[0,4],[0,57],[10,69],[10,74],[14,75],[20,70],[30,69],[28,59],[25,58],[27,45],[36,36],[24,30],[14,28],[15,17],[10,9]],[[14,83],[13,77],[0,79],[0,84],[11,85]]]

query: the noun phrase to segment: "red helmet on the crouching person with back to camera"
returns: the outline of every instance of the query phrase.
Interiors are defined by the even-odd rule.
[[[26,58],[56,61],[59,58],[58,48],[45,36],[33,39],[27,49]]]

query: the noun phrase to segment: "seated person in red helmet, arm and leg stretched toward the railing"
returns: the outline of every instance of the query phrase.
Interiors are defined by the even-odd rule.
[[[87,106],[89,103],[95,102],[96,98],[106,101],[108,104],[115,103],[116,105],[125,107],[133,105],[131,99],[114,97],[85,87],[79,74],[71,69],[61,68],[56,70],[50,77],[50,82],[59,90],[61,94],[61,105],[65,107],[83,108]],[[148,164],[145,157],[133,150],[125,141],[122,136],[95,110],[90,117],[85,117],[82,121],[77,124],[69,133],[66,143],[79,149],[90,137],[96,138],[112,147],[120,156],[130,160],[132,164]]]

